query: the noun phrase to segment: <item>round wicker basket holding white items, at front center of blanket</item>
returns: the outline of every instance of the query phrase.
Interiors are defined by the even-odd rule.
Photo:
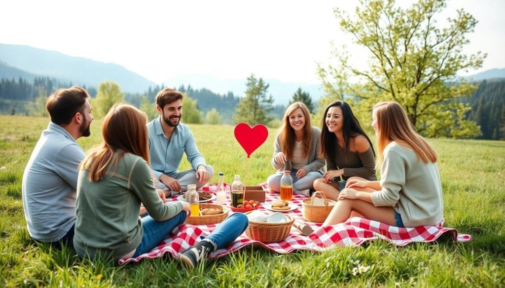
[[[249,214],[247,212],[245,214]],[[284,223],[266,223],[266,222],[256,222],[249,221],[249,225],[245,229],[245,234],[252,240],[261,241],[264,243],[279,242],[284,239],[289,234],[291,230],[291,225],[293,224],[294,218],[284,214],[289,220]]]

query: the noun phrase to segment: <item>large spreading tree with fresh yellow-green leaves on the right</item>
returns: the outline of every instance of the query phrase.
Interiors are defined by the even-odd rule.
[[[372,105],[391,100],[405,108],[424,136],[479,135],[475,122],[465,118],[468,104],[456,101],[476,89],[456,73],[480,68],[486,57],[462,52],[477,20],[458,10],[440,27],[436,19],[445,7],[445,0],[418,0],[405,9],[394,0],[363,0],[355,17],[335,9],[340,28],[366,48],[370,59],[368,68],[360,69],[351,64],[345,49],[335,50],[336,64],[318,65],[326,92],[334,99],[346,95],[360,120],[368,123]]]

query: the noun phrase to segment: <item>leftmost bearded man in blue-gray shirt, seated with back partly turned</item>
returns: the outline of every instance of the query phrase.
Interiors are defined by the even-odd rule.
[[[23,209],[30,236],[59,247],[74,237],[78,165],[84,151],[75,140],[90,135],[89,94],[74,86],[46,101],[51,123],[42,131],[23,173]]]

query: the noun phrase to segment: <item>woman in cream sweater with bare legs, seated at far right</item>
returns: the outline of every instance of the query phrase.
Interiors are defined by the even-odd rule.
[[[323,225],[344,222],[353,211],[398,227],[438,224],[443,218],[442,187],[433,148],[396,102],[374,106],[372,127],[381,181],[348,181]]]

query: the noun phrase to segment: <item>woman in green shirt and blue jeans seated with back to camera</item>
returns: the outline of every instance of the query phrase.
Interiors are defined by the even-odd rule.
[[[81,257],[135,258],[159,245],[191,211],[187,202],[164,203],[157,193],[146,122],[145,113],[131,105],[113,106],[102,123],[102,144],[80,165],[74,248]],[[143,218],[141,203],[149,213]],[[244,214],[234,213],[179,258],[194,267],[234,241],[247,224]]]

